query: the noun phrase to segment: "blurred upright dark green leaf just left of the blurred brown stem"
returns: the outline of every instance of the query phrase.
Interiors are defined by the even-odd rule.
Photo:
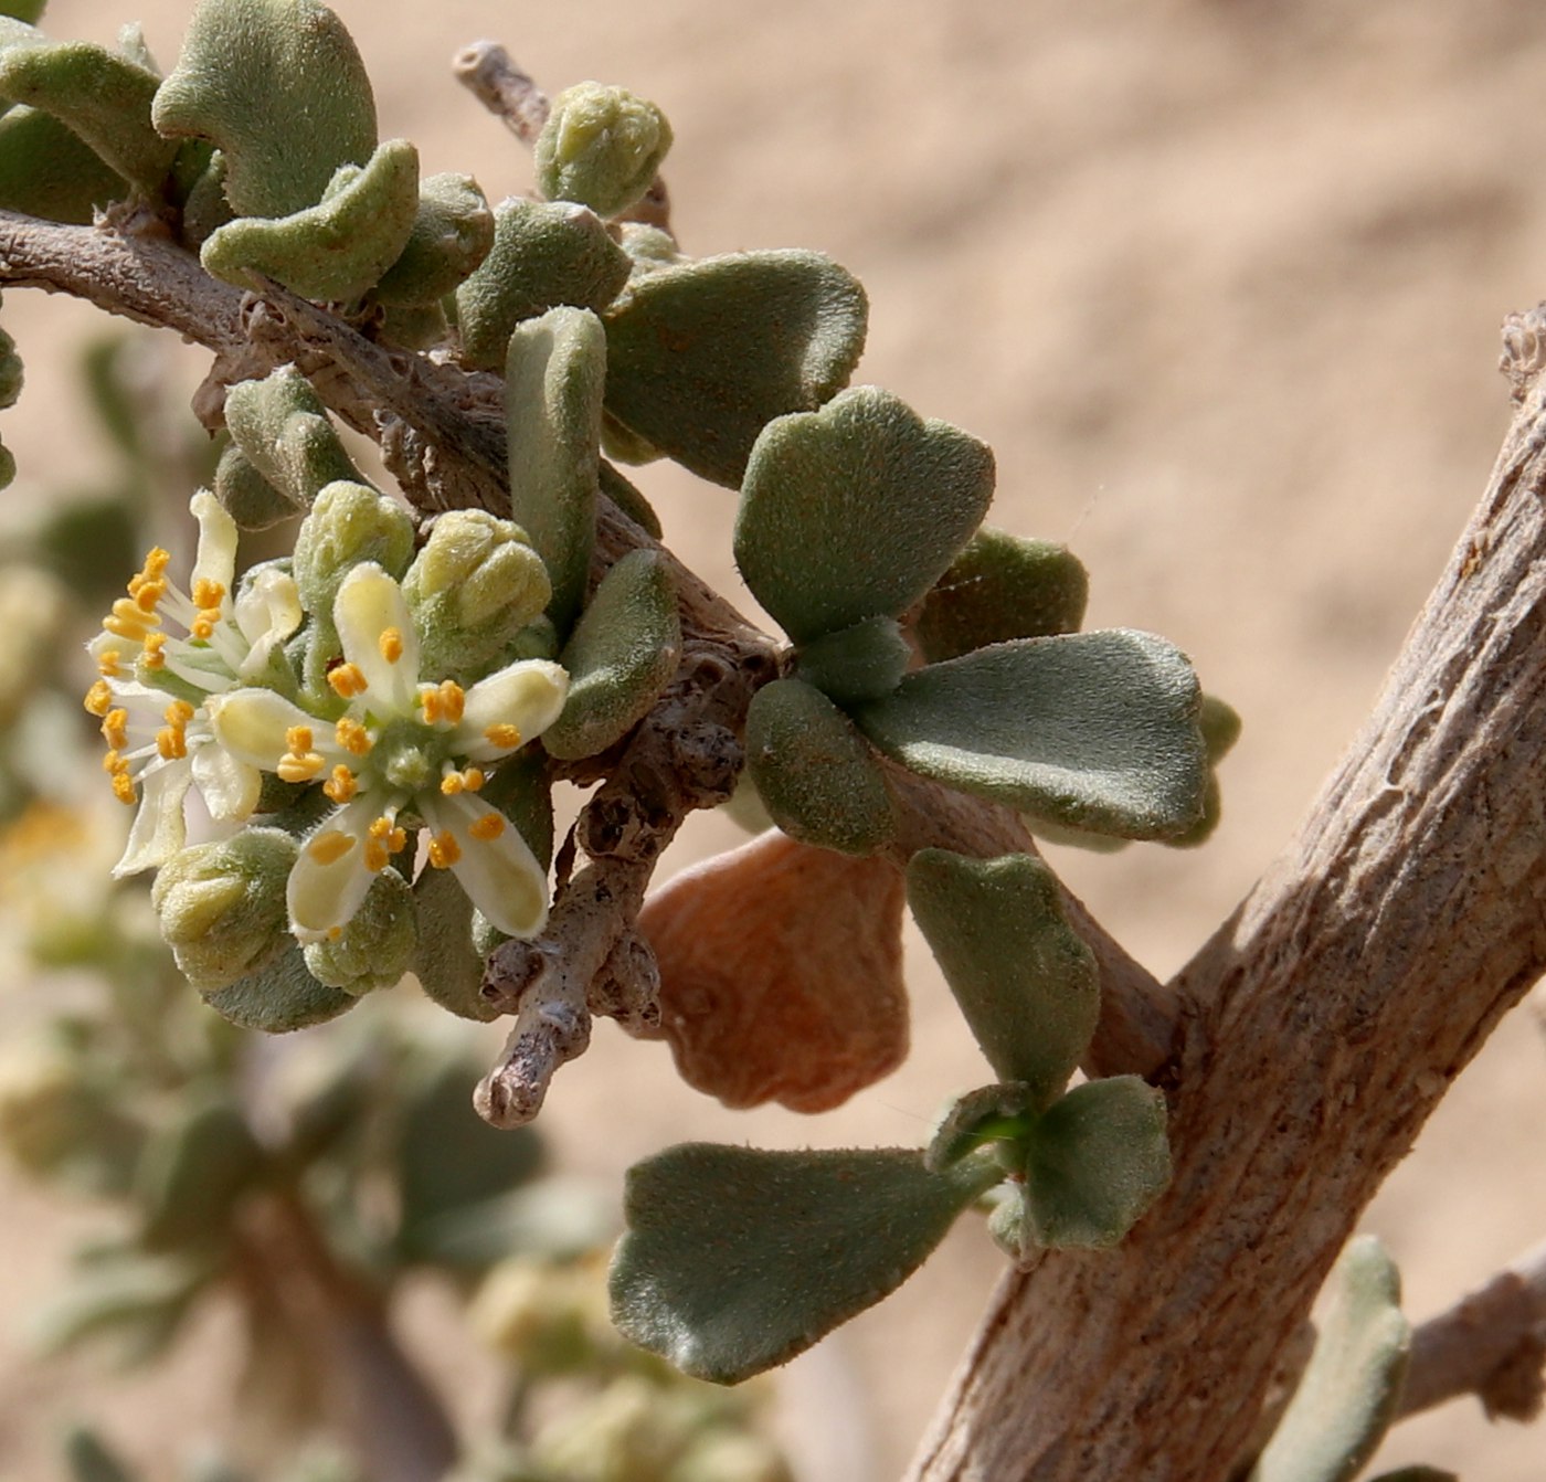
[[[135,1173],[141,1247],[184,1250],[221,1239],[237,1199],[264,1168],[263,1150],[233,1099],[213,1093],[195,1100],[141,1154]]]

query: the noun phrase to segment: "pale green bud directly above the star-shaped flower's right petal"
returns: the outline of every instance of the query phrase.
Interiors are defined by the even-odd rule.
[[[552,584],[526,532],[482,510],[436,519],[402,584],[424,635],[424,672],[499,654],[547,606]]]

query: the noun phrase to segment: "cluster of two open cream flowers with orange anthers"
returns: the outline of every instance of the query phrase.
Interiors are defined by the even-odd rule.
[[[326,502],[308,519],[323,521]],[[558,719],[567,675],[516,658],[470,682],[424,677],[421,652],[453,651],[456,635],[425,631],[444,626],[444,603],[410,601],[448,546],[468,546],[464,525],[476,527],[476,549],[536,563],[521,532],[479,513],[445,516],[444,539],[431,536],[407,573],[343,553],[326,610],[308,610],[288,563],[237,583],[237,527],[212,495],[196,495],[192,512],[189,589],[169,576],[167,552],[152,550],[90,644],[99,678],[85,705],[102,722],[104,768],[116,796],[138,804],[114,873],[182,853],[196,794],[216,834],[258,821],[297,834],[284,902],[300,943],[337,941],[376,879],[388,867],[413,879],[419,853],[425,868],[455,872],[493,927],[536,935],[546,870],[479,793]],[[318,529],[305,533],[315,542]],[[527,580],[509,626],[530,623],[543,601],[546,578]],[[326,651],[309,652],[318,644]]]

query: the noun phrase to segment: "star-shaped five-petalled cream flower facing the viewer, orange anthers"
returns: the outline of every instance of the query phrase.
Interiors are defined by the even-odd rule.
[[[419,637],[402,589],[374,563],[354,567],[334,603],[343,663],[328,683],[346,702],[323,722],[271,689],[209,702],[230,756],[286,782],[318,782],[337,808],[312,831],[289,876],[291,930],[335,936],[391,856],[399,817],[422,821],[434,868],[450,868],[478,909],[512,936],[547,919],[547,876],[510,821],[478,797],[482,766],[510,756],[563,709],[569,677],[523,660],[468,689],[419,680]]]

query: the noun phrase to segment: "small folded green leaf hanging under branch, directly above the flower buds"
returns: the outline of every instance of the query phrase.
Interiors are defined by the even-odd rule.
[[[243,456],[294,510],[309,508],[328,484],[363,484],[332,428],[322,397],[292,365],[226,391],[226,427]]]

